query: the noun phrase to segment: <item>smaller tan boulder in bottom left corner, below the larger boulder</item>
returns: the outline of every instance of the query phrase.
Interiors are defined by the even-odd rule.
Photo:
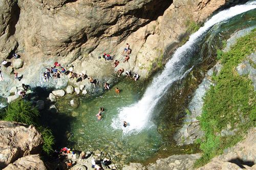
[[[46,170],[39,155],[28,155],[9,164],[5,170]]]

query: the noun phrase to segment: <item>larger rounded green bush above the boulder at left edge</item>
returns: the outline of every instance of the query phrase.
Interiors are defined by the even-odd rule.
[[[4,120],[27,125],[38,125],[39,111],[30,102],[16,100],[7,107]]]

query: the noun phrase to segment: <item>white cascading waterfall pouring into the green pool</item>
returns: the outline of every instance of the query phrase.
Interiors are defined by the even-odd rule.
[[[157,102],[166,92],[166,90],[175,81],[181,80],[192,69],[187,68],[189,62],[189,51],[192,51],[197,40],[216,23],[225,21],[233,16],[244,13],[256,8],[256,1],[237,5],[227,10],[221,11],[212,16],[204,26],[189,37],[189,40],[179,47],[173,57],[166,63],[162,73],[153,79],[150,86],[147,87],[142,99],[136,104],[119,109],[119,114],[112,120],[114,129],[122,129],[124,134],[138,133],[144,128],[150,128],[154,124],[150,121],[150,115]],[[122,127],[122,122],[126,121],[129,126]]]

